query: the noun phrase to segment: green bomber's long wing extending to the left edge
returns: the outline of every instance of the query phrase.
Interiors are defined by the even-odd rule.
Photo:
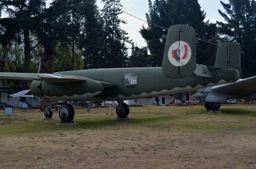
[[[89,78],[80,77],[75,75],[63,75],[63,74],[34,74],[34,73],[9,73],[1,72],[0,78],[14,79],[14,80],[43,80],[51,83],[68,83],[72,81],[87,81]],[[96,80],[97,81],[97,80]],[[106,87],[116,86],[116,84],[107,83],[104,81],[98,81]]]

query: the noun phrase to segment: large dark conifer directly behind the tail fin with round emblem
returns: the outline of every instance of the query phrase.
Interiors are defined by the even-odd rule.
[[[146,19],[148,28],[143,26],[140,33],[146,40],[151,52],[152,66],[162,65],[168,32],[163,27],[169,28],[174,24],[188,24],[196,29],[198,38],[216,43],[216,26],[208,21],[204,22],[205,13],[201,10],[197,0],[155,0],[154,4],[149,0],[149,13],[146,13]],[[216,46],[197,41],[197,63],[213,64],[215,50]]]

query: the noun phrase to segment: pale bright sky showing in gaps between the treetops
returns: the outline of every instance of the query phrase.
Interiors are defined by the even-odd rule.
[[[216,22],[217,20],[223,21],[222,17],[218,13],[218,9],[224,12],[220,0],[198,0],[198,2],[201,5],[201,9],[206,13],[205,20],[209,20],[210,22]],[[222,0],[222,2],[227,3],[229,0]],[[101,0],[97,0],[97,4],[99,9],[103,7]],[[145,13],[148,13],[149,10],[148,0],[121,0],[121,4],[123,5],[123,10],[125,12],[146,21]],[[123,24],[121,27],[126,30],[130,39],[132,39],[138,47],[146,46],[146,43],[141,37],[139,31],[143,25],[147,27],[148,24],[139,19],[133,18],[126,13],[123,13],[120,18],[127,21],[127,24]]]

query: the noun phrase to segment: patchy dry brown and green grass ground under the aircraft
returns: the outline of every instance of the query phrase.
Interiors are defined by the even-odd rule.
[[[76,109],[77,126],[55,125],[57,113],[46,122],[39,112],[16,112],[5,122],[0,112],[1,167],[256,168],[256,117],[251,112],[131,108],[130,122],[116,122],[105,111]],[[18,132],[3,131],[8,128]]]

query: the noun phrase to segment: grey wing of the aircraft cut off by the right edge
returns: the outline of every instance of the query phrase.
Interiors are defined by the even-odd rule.
[[[250,78],[244,78],[234,83],[222,84],[219,86],[213,86],[212,91],[227,94],[227,95],[238,95],[238,96],[249,96],[256,92],[256,76]]]

